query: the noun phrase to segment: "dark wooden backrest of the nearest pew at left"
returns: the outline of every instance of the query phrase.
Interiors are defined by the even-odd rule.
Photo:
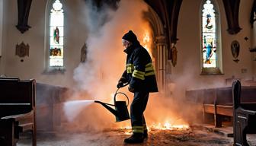
[[[0,78],[0,118],[28,113],[34,107],[34,79]]]

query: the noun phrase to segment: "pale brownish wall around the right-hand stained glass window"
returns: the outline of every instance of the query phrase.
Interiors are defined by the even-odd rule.
[[[240,3],[239,25],[242,30],[235,35],[227,32],[228,26],[226,13],[222,0],[217,0],[219,5],[222,37],[222,68],[224,75],[200,75],[200,4],[201,0],[184,0],[181,5],[178,20],[178,63],[172,68],[171,81],[174,91],[226,86],[226,78],[241,78],[243,81],[252,78],[251,52],[248,51],[250,41],[250,9],[252,0],[242,0]],[[233,61],[230,44],[233,40],[240,43],[238,63]],[[242,70],[244,72],[242,72]],[[246,70],[246,71],[245,71]],[[228,84],[231,85],[231,84]],[[184,95],[182,95],[184,96]]]

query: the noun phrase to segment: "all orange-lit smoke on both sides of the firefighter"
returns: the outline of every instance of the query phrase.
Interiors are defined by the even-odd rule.
[[[125,68],[126,54],[123,52],[121,37],[128,30],[133,30],[142,43],[143,34],[146,30],[150,30],[149,25],[142,20],[142,12],[147,11],[147,5],[142,0],[122,0],[115,11],[107,5],[102,5],[101,9],[98,9],[91,1],[86,1],[85,5],[81,6],[86,16],[84,24],[88,28],[85,32],[88,33],[87,60],[75,68],[73,77],[76,82],[75,93],[69,100],[101,100],[112,103],[111,95],[117,90],[117,81]],[[168,90],[171,92],[171,97],[166,97],[165,94],[150,95],[145,113],[149,125],[157,122],[184,124],[183,117],[186,116],[193,116],[190,119],[196,119],[194,114],[196,109],[185,106],[189,105],[184,103],[185,90],[225,85],[222,79],[216,81],[214,76],[203,79],[194,77],[200,73],[190,62],[187,65],[183,63],[182,66],[184,70],[175,68],[169,78],[171,83],[168,84]],[[123,91],[126,92],[126,89]],[[128,96],[133,97],[132,94]],[[72,130],[102,130],[130,125],[130,121],[117,125],[114,123],[114,115],[97,103],[81,107],[66,106],[66,111],[77,115],[72,117]]]

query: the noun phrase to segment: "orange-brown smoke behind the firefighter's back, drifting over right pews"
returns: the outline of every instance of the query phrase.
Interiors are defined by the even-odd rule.
[[[182,117],[189,124],[202,122],[203,116],[200,105],[203,103],[200,99],[186,98],[186,90],[227,87],[226,81],[223,77],[216,75],[203,77],[194,62],[186,61],[181,66],[182,68],[178,68],[177,72],[168,77],[171,81],[168,84],[168,89],[171,92],[172,111],[176,111],[179,117]],[[196,102],[197,104],[194,104]]]

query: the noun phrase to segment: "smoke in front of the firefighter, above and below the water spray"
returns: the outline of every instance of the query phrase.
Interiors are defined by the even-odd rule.
[[[117,81],[126,63],[121,38],[124,33],[133,30],[142,40],[145,31],[149,30],[147,23],[142,20],[142,12],[147,11],[147,5],[143,1],[123,0],[114,11],[107,5],[99,10],[87,1],[83,7],[85,26],[88,27],[87,59],[75,68],[73,78],[77,85],[69,100],[112,103],[111,95],[117,90]],[[66,111],[77,114],[71,123],[71,130],[102,130],[117,126],[114,115],[100,104],[80,108],[81,112],[75,108],[77,106],[66,106]]]

